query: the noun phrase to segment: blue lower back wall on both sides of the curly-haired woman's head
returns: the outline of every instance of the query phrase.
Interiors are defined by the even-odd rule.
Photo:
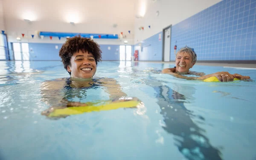
[[[55,46],[58,46],[58,49],[55,49]],[[58,52],[61,49],[62,44],[42,44],[42,43],[29,43],[30,60],[57,60],[61,61],[61,58],[58,56]],[[102,60],[113,60],[119,61],[119,45],[100,45],[102,49]],[[108,47],[111,47],[109,50]]]

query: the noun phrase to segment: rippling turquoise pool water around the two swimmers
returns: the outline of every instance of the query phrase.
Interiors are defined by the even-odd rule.
[[[103,61],[97,77],[116,79],[142,108],[57,120],[42,116],[41,83],[68,77],[59,61],[0,61],[0,160],[255,160],[256,82],[209,83],[152,73],[173,64]],[[197,66],[207,74],[256,70]],[[101,95],[101,96],[99,96]],[[88,90],[87,98],[108,96]]]

